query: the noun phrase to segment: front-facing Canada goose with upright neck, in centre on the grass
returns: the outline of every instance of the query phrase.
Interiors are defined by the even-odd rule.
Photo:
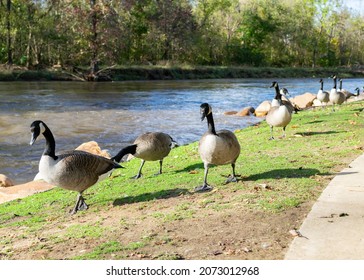
[[[211,164],[231,164],[233,174],[227,182],[236,182],[235,162],[240,154],[240,145],[235,134],[229,130],[215,130],[211,106],[203,103],[200,106],[201,121],[207,119],[207,131],[202,135],[198,144],[198,152],[204,163],[205,173],[202,186],[196,187],[196,192],[209,191],[212,189],[207,183],[207,174]]]

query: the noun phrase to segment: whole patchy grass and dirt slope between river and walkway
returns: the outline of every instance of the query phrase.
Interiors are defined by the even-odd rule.
[[[76,193],[59,188],[0,205],[1,259],[276,259],[336,172],[363,153],[364,102],[293,116],[287,137],[269,141],[265,122],[236,131],[241,155],[203,181],[197,143],[173,149],[164,173],[140,161],[84,193],[90,208],[70,216]],[[222,128],[216,124],[217,128]],[[261,246],[262,242],[265,244]],[[270,246],[266,246],[270,244]],[[264,248],[263,248],[264,247]],[[243,249],[242,249],[243,248]],[[269,249],[265,249],[269,248]]]

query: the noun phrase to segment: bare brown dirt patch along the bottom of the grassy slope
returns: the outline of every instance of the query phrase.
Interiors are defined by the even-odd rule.
[[[263,212],[231,202],[236,192],[220,189],[218,195],[223,197],[219,205],[203,203],[203,194],[183,194],[110,205],[106,211],[88,210],[85,215],[64,213],[33,234],[24,227],[16,232],[2,228],[0,235],[7,243],[3,252],[8,253],[0,258],[92,258],[92,252],[112,242],[121,247],[113,251],[106,246],[99,258],[283,259],[294,238],[289,231],[298,228],[310,210],[303,204],[279,213]],[[70,229],[82,225],[107,230],[74,238]]]

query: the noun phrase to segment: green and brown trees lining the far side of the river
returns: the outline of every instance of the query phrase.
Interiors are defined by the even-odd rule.
[[[356,66],[341,0],[0,0],[0,63]]]

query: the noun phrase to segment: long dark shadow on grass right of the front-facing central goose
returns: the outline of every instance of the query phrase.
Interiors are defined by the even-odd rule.
[[[280,178],[309,178],[313,175],[332,175],[328,173],[320,173],[318,169],[314,168],[285,168],[274,169],[267,172],[250,175],[245,177],[244,181],[255,181],[260,179],[280,179]]]

